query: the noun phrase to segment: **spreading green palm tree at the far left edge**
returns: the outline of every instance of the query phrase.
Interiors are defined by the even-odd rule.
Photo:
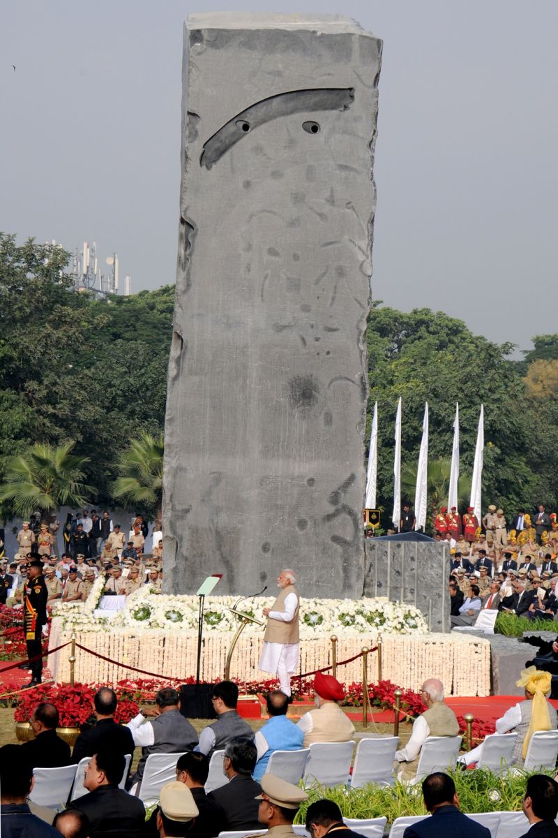
[[[36,442],[13,457],[6,468],[6,483],[0,486],[0,502],[8,501],[23,517],[36,510],[44,515],[60,506],[83,506],[93,492],[83,482],[83,467],[89,460],[72,453],[74,445]]]

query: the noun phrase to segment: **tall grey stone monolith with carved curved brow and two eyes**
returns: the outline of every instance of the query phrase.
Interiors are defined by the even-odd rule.
[[[166,592],[364,580],[381,41],[338,16],[187,21]]]

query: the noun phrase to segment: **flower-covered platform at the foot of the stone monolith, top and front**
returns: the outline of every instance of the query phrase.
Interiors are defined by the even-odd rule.
[[[61,603],[54,608],[50,648],[69,640],[74,631],[77,644],[94,653],[77,650],[76,680],[116,682],[130,677],[132,670],[128,667],[179,679],[195,675],[197,597],[156,594],[146,586],[128,597],[122,611],[99,616],[96,608],[100,592],[101,586],[95,582],[86,603]],[[228,649],[238,628],[229,610],[235,601],[234,597],[206,599],[202,680],[223,677]],[[273,602],[272,597],[259,597],[243,603],[243,611],[260,618],[262,608]],[[425,618],[413,605],[391,603],[385,598],[301,597],[299,673],[331,664],[332,634],[338,638],[338,661],[359,654],[363,646],[375,647],[381,639],[382,678],[404,688],[417,690],[422,680],[438,677],[448,695],[489,695],[488,641],[466,634],[429,634]],[[250,681],[269,677],[258,669],[263,636],[264,629],[256,624],[249,623],[244,629],[233,654],[233,678]],[[95,657],[97,654],[117,663]],[[68,649],[49,658],[55,680],[69,680],[68,659]],[[361,659],[340,667],[338,677],[347,684],[361,681]],[[368,680],[378,680],[377,652],[368,656]]]

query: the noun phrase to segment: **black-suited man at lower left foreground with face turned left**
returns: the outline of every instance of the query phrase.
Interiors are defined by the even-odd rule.
[[[90,758],[84,778],[89,794],[72,800],[68,807],[87,815],[90,838],[141,838],[146,810],[139,798],[118,788],[124,767],[125,759],[116,751],[99,751]]]

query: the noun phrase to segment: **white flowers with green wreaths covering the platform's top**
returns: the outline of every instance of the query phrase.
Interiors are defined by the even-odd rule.
[[[102,579],[96,580],[85,603],[59,603],[55,615],[63,618],[64,628],[86,631],[105,631],[106,618],[96,617],[103,587]],[[235,597],[207,597],[204,613],[204,630],[230,632],[238,628],[238,618],[231,613]],[[264,621],[263,608],[269,608],[274,597],[259,597],[244,601],[241,610]],[[125,608],[110,617],[111,628],[165,629],[166,632],[183,633],[197,630],[198,598],[192,595],[161,595],[148,585],[141,587],[126,599]],[[386,597],[374,599],[305,599],[300,598],[301,639],[315,638],[321,634],[339,636],[355,634],[425,634],[427,622],[414,605],[392,603]],[[249,623],[245,634],[260,634],[257,623]]]

